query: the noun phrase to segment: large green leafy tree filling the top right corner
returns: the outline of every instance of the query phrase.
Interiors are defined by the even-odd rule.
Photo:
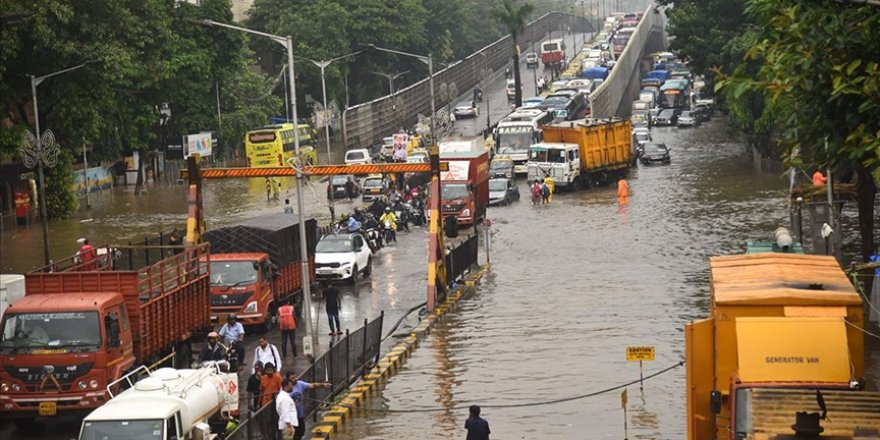
[[[732,96],[765,93],[781,109],[782,141],[799,167],[831,167],[857,184],[861,254],[874,251],[880,168],[880,13],[870,5],[749,0],[761,36],[720,81]],[[746,65],[759,61],[750,75]],[[768,107],[771,108],[771,107]]]

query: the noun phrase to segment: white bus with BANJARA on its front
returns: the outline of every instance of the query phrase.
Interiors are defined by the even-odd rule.
[[[544,139],[543,126],[553,122],[553,112],[520,108],[498,123],[495,131],[495,154],[508,156],[517,174],[528,171],[529,147]]]

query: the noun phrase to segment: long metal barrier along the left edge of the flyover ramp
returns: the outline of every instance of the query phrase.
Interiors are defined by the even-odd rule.
[[[584,17],[552,12],[526,26],[519,39],[520,47],[526,48],[532,43],[540,43],[550,31],[569,28],[572,32],[593,30]],[[458,96],[509,65],[512,56],[513,44],[510,36],[507,36],[435,72],[435,104],[438,113]],[[345,147],[364,148],[381,142],[383,136],[389,136],[400,127],[415,125],[420,114],[431,114],[428,78],[393,95],[346,109],[342,114]]]

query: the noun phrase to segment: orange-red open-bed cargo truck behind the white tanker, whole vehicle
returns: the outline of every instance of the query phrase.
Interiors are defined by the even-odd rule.
[[[192,363],[191,344],[211,329],[208,246],[101,251],[25,276],[24,298],[2,321],[3,419],[87,414],[140,365]]]

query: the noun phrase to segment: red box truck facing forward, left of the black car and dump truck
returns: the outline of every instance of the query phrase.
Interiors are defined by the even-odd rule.
[[[440,212],[454,215],[460,225],[486,218],[489,203],[489,153],[462,151],[440,154],[449,170],[440,173]]]

